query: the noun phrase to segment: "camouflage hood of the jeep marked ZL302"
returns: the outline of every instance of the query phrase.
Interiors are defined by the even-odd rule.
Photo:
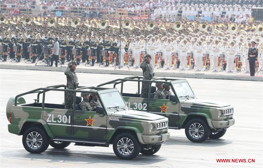
[[[184,100],[183,104],[200,105],[200,106],[216,107],[216,108],[222,108],[222,107],[230,106],[230,104],[228,104],[228,103],[222,103],[222,102],[207,100],[207,99],[202,99],[202,98]]]

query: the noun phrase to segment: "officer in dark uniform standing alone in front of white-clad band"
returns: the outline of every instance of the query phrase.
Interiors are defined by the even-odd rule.
[[[251,42],[252,47],[248,50],[247,60],[249,61],[250,76],[255,76],[255,65],[257,62],[258,50],[255,48],[256,42]]]

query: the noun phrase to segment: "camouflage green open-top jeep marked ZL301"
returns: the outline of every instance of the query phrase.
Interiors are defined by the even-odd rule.
[[[8,131],[23,135],[23,146],[28,152],[42,153],[49,145],[66,148],[71,142],[77,146],[109,147],[113,144],[117,157],[130,160],[139,153],[158,152],[170,137],[168,118],[128,109],[116,88],[79,86],[71,90],[74,92],[73,110],[64,109],[62,102],[66,91],[65,85],[57,85],[9,98],[6,107],[10,122]],[[76,96],[82,92],[96,94],[102,106],[82,111],[81,97]],[[35,102],[26,103],[22,96],[28,97],[31,93],[37,94]]]

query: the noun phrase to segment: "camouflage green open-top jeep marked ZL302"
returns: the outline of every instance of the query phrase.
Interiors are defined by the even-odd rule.
[[[147,98],[140,98],[140,84],[147,82]],[[166,83],[171,87],[169,99],[155,99],[156,83]],[[169,119],[170,129],[185,129],[185,135],[192,142],[204,142],[207,138],[220,138],[226,129],[235,124],[233,106],[212,100],[196,98],[186,79],[155,78],[142,80],[132,76],[116,79],[105,85],[118,87],[129,109],[158,114]],[[130,87],[133,86],[133,87]],[[112,86],[111,86],[112,87]],[[136,93],[135,93],[136,92]]]

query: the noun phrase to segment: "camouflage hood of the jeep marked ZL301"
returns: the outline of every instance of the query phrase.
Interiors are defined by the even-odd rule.
[[[165,118],[161,115],[151,114],[149,112],[135,111],[135,110],[122,110],[118,112],[113,112],[111,113],[111,116],[130,118],[130,119],[148,120],[148,121],[154,121],[154,120]]]

